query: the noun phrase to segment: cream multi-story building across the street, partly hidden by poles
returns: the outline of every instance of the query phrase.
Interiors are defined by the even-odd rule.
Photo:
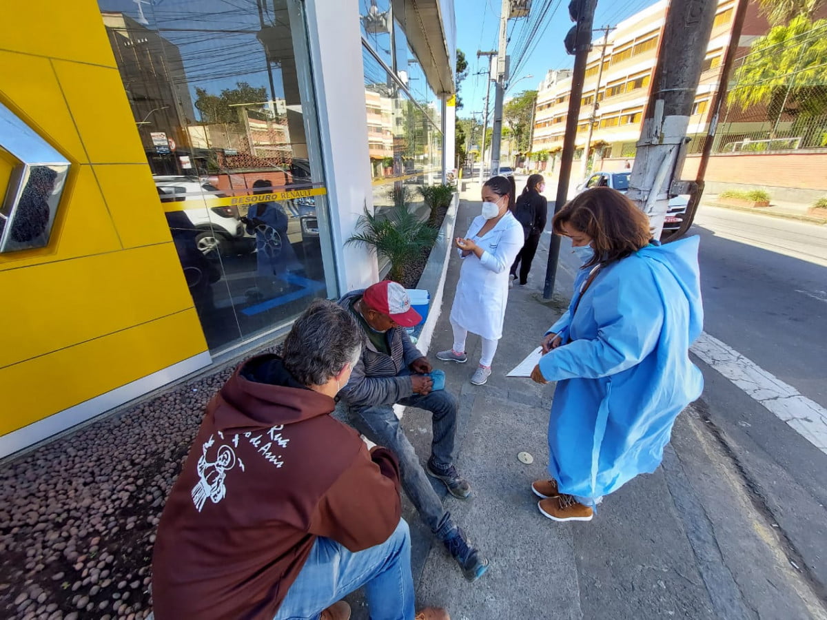
[[[734,6],[734,0],[719,0],[691,111],[690,131],[693,134],[703,134],[709,120],[710,99],[718,88],[720,64],[724,49],[729,45]],[[656,2],[621,21],[609,32],[605,45],[603,36],[595,39],[586,64],[576,159],[580,159],[586,150],[589,123],[592,124],[590,155],[612,159],[634,157],[657,64],[666,9],[667,2]],[[549,71],[538,87],[531,151],[533,165],[539,169],[553,167],[562,150],[570,93],[571,73],[567,71]]]

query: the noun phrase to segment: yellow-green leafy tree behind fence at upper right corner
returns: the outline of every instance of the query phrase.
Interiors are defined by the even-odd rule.
[[[793,131],[804,133],[804,145],[820,143],[827,114],[827,20],[810,21],[804,15],[786,26],[775,26],[759,37],[735,74],[728,103],[742,110],[766,106],[767,120],[777,127],[782,115],[794,118]],[[815,133],[814,133],[815,132]],[[775,128],[771,137],[775,137]]]

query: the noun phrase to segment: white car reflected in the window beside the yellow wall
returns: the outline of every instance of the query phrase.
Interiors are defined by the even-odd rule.
[[[208,179],[196,176],[153,176],[162,203],[199,201],[203,207],[187,208],[184,213],[192,227],[200,232],[195,243],[203,255],[218,258],[232,253],[237,242],[245,237],[238,207],[210,206],[218,198],[226,198]]]

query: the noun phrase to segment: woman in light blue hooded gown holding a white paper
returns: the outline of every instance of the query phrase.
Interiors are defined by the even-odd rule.
[[[552,477],[532,490],[546,517],[590,521],[600,498],[657,469],[675,418],[700,397],[703,377],[689,358],[703,329],[699,238],[661,246],[648,217],[611,188],[572,199],[552,228],[583,266],[532,374],[557,381]]]

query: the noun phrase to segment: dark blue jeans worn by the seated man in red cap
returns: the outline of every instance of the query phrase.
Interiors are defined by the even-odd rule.
[[[457,398],[440,390],[425,396],[414,394],[402,398],[399,404],[405,407],[425,409],[433,414],[433,441],[431,455],[437,465],[452,465],[454,462],[454,438],[457,434]],[[402,488],[414,504],[419,516],[431,528],[434,536],[444,541],[454,527],[451,513],[442,508],[442,500],[431,486],[428,475],[408,441],[399,419],[390,405],[375,407],[346,406],[351,426],[378,446],[385,446],[399,459],[402,474]]]

